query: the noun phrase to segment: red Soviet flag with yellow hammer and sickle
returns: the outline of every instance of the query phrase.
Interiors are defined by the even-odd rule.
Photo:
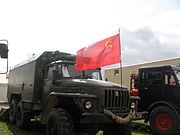
[[[120,62],[119,34],[80,49],[76,54],[75,70],[96,69]]]

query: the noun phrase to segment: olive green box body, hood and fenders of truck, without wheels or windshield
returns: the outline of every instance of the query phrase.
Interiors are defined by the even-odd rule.
[[[40,114],[43,124],[51,109],[57,106],[71,111],[73,117],[82,114],[83,118],[87,113],[88,116],[101,113],[104,118],[104,108],[118,115],[129,113],[130,96],[126,87],[95,79],[57,78],[57,69],[50,73],[50,67],[58,68],[58,62],[65,60],[72,64],[75,56],[58,51],[44,52],[15,66],[9,72],[9,101],[22,99],[24,109],[31,114]],[[53,77],[48,77],[49,74]],[[85,108],[86,101],[92,103],[89,110]]]

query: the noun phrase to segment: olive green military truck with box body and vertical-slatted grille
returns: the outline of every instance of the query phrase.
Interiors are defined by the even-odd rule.
[[[71,54],[44,52],[10,70],[10,122],[25,128],[39,116],[47,135],[131,134],[128,89],[93,79],[99,70],[76,72],[74,64]]]

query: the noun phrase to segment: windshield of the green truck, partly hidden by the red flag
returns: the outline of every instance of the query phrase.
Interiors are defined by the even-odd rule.
[[[61,63],[59,67],[61,67],[63,77],[66,78],[91,78],[96,80],[102,80],[100,69],[76,71],[74,70],[73,63]]]

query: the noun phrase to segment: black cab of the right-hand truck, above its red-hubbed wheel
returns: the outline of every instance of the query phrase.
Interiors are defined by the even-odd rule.
[[[140,111],[158,101],[180,106],[180,68],[170,65],[139,69]],[[173,98],[172,98],[173,97]]]

